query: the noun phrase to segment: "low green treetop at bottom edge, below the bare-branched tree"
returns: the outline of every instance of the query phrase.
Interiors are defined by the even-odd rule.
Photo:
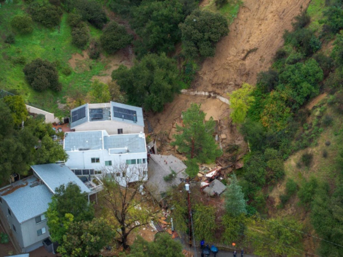
[[[137,236],[127,257],[184,257],[182,249],[182,244],[173,240],[169,234],[157,233],[152,242]]]

